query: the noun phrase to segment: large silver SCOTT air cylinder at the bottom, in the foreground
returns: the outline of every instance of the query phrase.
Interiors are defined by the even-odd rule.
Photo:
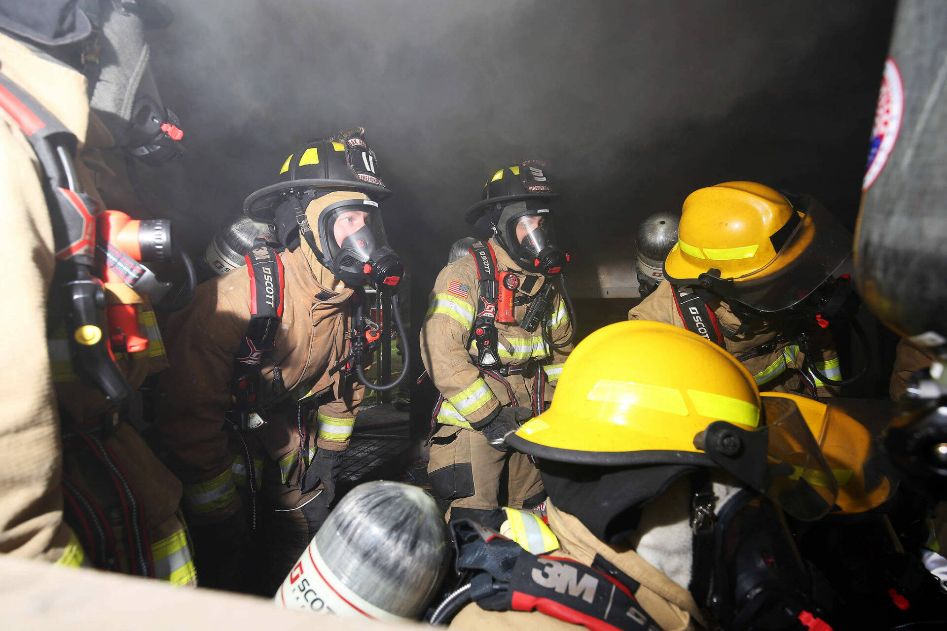
[[[366,482],[332,510],[277,591],[277,605],[382,621],[419,620],[450,562],[431,496]]]

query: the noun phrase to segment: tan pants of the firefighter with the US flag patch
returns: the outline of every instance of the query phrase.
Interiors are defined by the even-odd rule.
[[[441,425],[431,439],[427,472],[438,500],[451,502],[448,520],[476,519],[500,506],[532,508],[545,500],[539,469],[525,453],[497,451],[473,429]]]

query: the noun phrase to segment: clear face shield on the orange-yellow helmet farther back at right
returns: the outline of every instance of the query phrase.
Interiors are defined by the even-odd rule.
[[[804,198],[799,206],[805,214],[764,267],[732,282],[701,274],[698,283],[691,284],[706,280],[710,289],[763,312],[780,311],[805,300],[849,258],[852,236],[813,198]]]

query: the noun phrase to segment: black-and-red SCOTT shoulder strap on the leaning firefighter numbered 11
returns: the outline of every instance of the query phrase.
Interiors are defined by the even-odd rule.
[[[283,262],[273,243],[257,237],[256,246],[246,254],[250,274],[250,324],[234,358],[230,381],[230,410],[227,419],[239,430],[249,431],[266,425],[259,409],[260,364],[264,355],[276,347],[277,331],[283,317]],[[278,387],[279,369],[274,366]]]

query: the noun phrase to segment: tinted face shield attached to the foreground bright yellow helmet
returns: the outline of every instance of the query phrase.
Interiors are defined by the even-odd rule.
[[[784,511],[806,521],[825,516],[838,482],[795,402],[765,398],[766,425],[747,431],[724,421],[697,440],[707,455]]]

